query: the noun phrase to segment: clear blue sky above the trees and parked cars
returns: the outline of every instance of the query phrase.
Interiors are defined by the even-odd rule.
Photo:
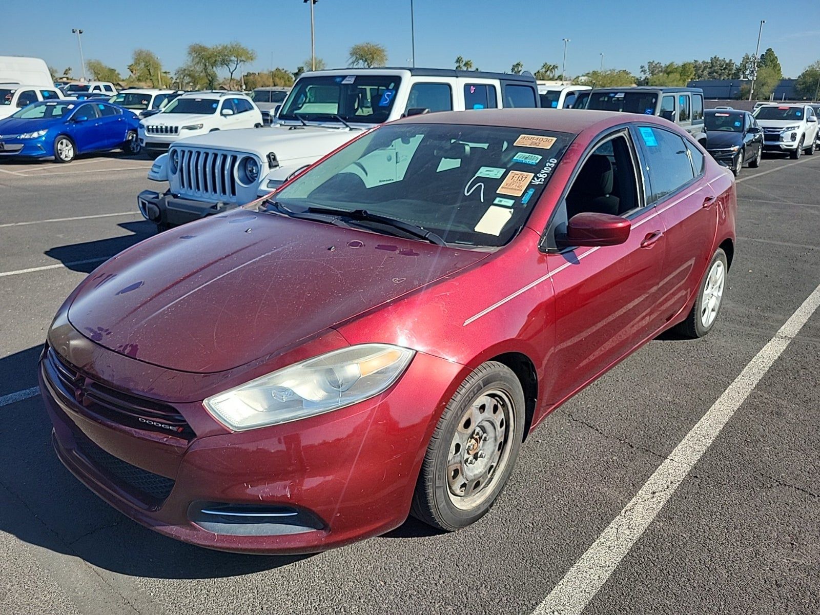
[[[686,12],[681,12],[681,7]],[[90,10],[89,10],[90,8]],[[346,66],[353,43],[385,45],[390,66],[411,57],[410,0],[319,0],[317,56],[329,67]],[[713,55],[738,61],[754,53],[758,23],[761,52],[774,48],[786,76],[797,76],[820,57],[817,2],[745,0],[415,0],[416,65],[453,67],[456,56],[485,71],[509,71],[523,62],[561,65],[563,38],[571,39],[567,75],[604,66],[635,74],[648,60],[684,62]],[[249,70],[271,65],[294,70],[310,57],[309,8],[302,0],[225,2],[3,2],[0,55],[43,57],[58,72],[80,74],[72,27],[84,30],[86,60],[98,59],[127,74],[134,48],[157,53],[166,70],[185,61],[189,43],[239,40],[257,52]]]

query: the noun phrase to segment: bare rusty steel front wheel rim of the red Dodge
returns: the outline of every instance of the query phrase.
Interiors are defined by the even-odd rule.
[[[495,476],[508,465],[515,433],[512,399],[503,390],[486,390],[472,401],[450,441],[447,494],[453,506],[471,510],[490,496]]]

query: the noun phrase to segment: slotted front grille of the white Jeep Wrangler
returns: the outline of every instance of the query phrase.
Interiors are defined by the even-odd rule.
[[[177,147],[174,151],[180,153],[176,171],[180,194],[228,200],[236,198],[235,167],[239,154]]]

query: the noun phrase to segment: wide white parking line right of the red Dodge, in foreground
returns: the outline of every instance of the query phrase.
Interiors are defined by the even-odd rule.
[[[820,285],[649,476],[649,481],[535,608],[533,615],[580,615],[818,306]]]

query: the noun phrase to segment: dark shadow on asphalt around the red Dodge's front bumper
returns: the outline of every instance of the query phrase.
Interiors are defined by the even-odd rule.
[[[0,358],[0,397],[37,385],[35,346]],[[221,553],[150,531],[116,512],[62,466],[39,395],[8,403],[0,427],[0,531],[130,576],[206,579],[287,566],[308,556]]]

